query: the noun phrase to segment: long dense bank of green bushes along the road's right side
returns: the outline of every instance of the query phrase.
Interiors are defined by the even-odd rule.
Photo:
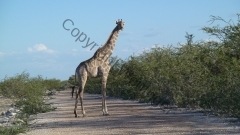
[[[156,46],[127,61],[111,58],[108,95],[240,118],[240,19],[211,21],[218,20],[227,26],[202,30],[220,41],[193,42],[186,33],[187,43],[178,48]],[[86,89],[100,91],[100,82],[90,81]]]

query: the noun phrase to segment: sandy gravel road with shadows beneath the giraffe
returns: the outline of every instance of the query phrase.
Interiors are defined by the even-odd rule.
[[[38,114],[27,135],[83,135],[83,134],[240,134],[239,123],[191,111],[172,111],[168,114],[149,104],[107,98],[109,116],[102,116],[101,96],[85,94],[87,117],[75,118],[75,98],[71,90],[61,91],[50,102],[55,111]],[[80,104],[78,114],[80,114]],[[80,115],[82,116],[82,115]],[[23,134],[21,134],[23,135]]]

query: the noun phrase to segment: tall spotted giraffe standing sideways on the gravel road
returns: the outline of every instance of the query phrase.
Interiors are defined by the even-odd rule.
[[[125,22],[123,22],[122,19],[116,21],[117,26],[111,32],[106,43],[102,47],[98,48],[90,59],[81,62],[77,66],[75,71],[75,81],[77,76],[79,80],[79,90],[77,92],[74,108],[75,117],[78,117],[77,104],[79,98],[81,102],[81,110],[83,117],[86,116],[83,106],[83,92],[88,77],[102,77],[102,112],[103,116],[109,115],[106,104],[106,84],[108,73],[111,67],[109,65],[108,59],[113,52],[119,32],[123,30],[124,23]]]

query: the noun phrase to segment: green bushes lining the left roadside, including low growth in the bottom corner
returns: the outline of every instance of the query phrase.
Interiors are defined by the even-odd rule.
[[[54,110],[50,104],[45,103],[46,90],[57,90],[62,85],[63,83],[60,80],[44,80],[41,76],[30,77],[26,72],[14,77],[5,77],[0,82],[0,94],[12,99],[21,108],[21,113],[17,114],[17,118],[24,123],[20,126],[0,127],[0,134],[14,135],[25,132],[31,114]]]

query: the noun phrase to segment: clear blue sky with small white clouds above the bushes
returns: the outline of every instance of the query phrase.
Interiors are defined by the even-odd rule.
[[[126,59],[155,44],[185,43],[186,32],[194,34],[194,41],[208,40],[209,35],[200,29],[213,26],[208,22],[210,15],[236,20],[239,5],[239,0],[1,0],[0,80],[23,71],[67,80],[98,48],[83,48],[87,40],[75,42],[74,28],[102,45],[115,21],[123,19],[126,25],[112,56]],[[66,19],[74,22],[74,26],[66,23],[69,31],[63,28]]]

